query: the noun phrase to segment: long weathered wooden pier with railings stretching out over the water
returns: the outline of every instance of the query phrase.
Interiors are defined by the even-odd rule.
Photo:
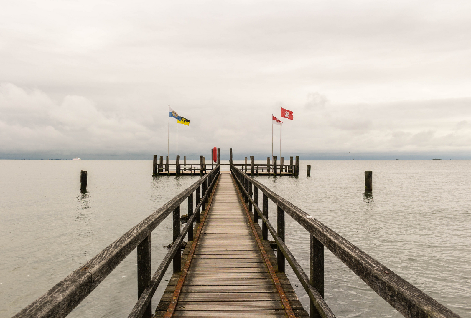
[[[162,157],[160,161],[162,163]],[[128,318],[153,316],[152,298],[171,263],[173,275],[157,306],[155,318],[334,318],[324,300],[325,248],[404,317],[460,318],[325,224],[252,178],[249,174],[254,175],[253,157],[251,161],[251,169],[247,173],[247,165],[234,165],[232,156],[230,172],[221,171],[220,164],[204,174],[204,169],[201,169],[201,177],[195,183],[74,270],[14,318],[67,316],[135,249],[137,302]],[[154,172],[155,162],[154,159]],[[276,175],[277,166],[273,167]],[[299,157],[290,170],[298,175]],[[276,211],[270,212],[270,218],[276,217],[276,228],[268,218],[268,200],[276,205]],[[188,221],[180,229],[180,209],[184,203],[187,204]],[[306,251],[309,276],[284,243],[286,214],[309,235],[310,246]],[[151,234],[169,215],[173,221],[173,244],[152,273]],[[276,255],[268,235],[276,242]],[[186,236],[188,244],[180,254],[180,246]],[[162,242],[157,244],[162,245]],[[284,274],[285,261],[309,296],[309,316]],[[130,288],[135,288],[135,285]]]

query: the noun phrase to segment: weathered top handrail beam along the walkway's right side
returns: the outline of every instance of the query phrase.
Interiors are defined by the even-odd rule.
[[[268,187],[262,183],[237,169],[234,165],[232,166],[233,168],[231,167],[231,170],[233,173],[236,171],[241,174],[245,179],[262,191],[268,199],[271,199],[311,235],[317,238],[322,245],[326,246],[335,256],[337,256],[338,259],[347,265],[350,270],[370,286],[376,294],[380,295],[404,317],[460,317],[429,295],[422,292],[419,288],[407,282],[404,278],[395,274],[382,263],[376,261],[373,257],[363,252],[346,238],[343,238],[340,234],[327,227],[324,223],[321,223],[311,215],[308,215],[299,207],[296,207],[288,200],[268,189]],[[245,189],[243,189],[243,191],[245,192],[245,195],[249,194]],[[248,195],[248,199],[255,207],[255,201],[253,201],[250,195]],[[258,210],[257,213],[263,220],[262,213],[258,206],[256,207],[256,210]],[[284,249],[286,249],[287,247],[284,242],[283,245]],[[284,256],[287,257],[286,254]],[[293,268],[293,270],[295,269]],[[311,298],[311,301],[316,300]]]

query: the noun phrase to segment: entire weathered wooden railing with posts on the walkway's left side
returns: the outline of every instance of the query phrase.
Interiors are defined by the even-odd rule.
[[[138,248],[138,302],[129,318],[150,318],[152,296],[159,286],[170,262],[173,271],[180,271],[180,245],[188,233],[193,240],[193,221],[200,222],[201,211],[208,203],[217,177],[219,166],[182,191],[175,198],[147,216],[122,237],[115,240],[91,260],[74,270],[46,294],[18,312],[14,318],[50,318],[67,316],[103,279],[114,270],[136,247]],[[193,192],[196,191],[196,207],[193,209]],[[200,193],[202,194],[200,197]],[[180,231],[180,204],[188,201],[187,225]],[[151,233],[173,213],[173,245],[165,255],[154,275],[151,272]]]

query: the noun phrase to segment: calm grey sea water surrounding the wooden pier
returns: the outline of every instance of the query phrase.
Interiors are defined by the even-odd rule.
[[[471,317],[471,160],[301,161],[300,167],[298,178],[257,179]],[[88,171],[87,193],[79,190],[80,170]],[[365,170],[373,170],[371,196],[364,193]],[[24,308],[199,178],[153,177],[152,161],[0,160],[0,171],[1,317]],[[270,205],[273,221],[274,215]],[[167,218],[153,232],[153,270],[171,237]],[[309,235],[289,216],[286,242],[309,273]],[[137,300],[136,258],[134,251],[69,317],[127,317]],[[287,274],[309,310],[302,286],[291,269]],[[337,317],[402,317],[327,250],[325,299]]]

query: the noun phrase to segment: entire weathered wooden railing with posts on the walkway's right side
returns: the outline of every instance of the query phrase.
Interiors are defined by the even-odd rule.
[[[311,318],[335,317],[324,301],[324,246],[404,317],[459,318],[453,311],[234,165],[231,166],[231,173],[248,204],[249,211],[254,210],[254,221],[258,222],[260,218],[263,222],[263,239],[268,239],[268,231],[270,231],[276,241],[278,270],[284,271],[286,258],[308,293]],[[259,190],[262,192],[261,209]],[[268,199],[276,204],[276,230],[268,221]],[[284,243],[285,212],[310,234],[310,278]]]

